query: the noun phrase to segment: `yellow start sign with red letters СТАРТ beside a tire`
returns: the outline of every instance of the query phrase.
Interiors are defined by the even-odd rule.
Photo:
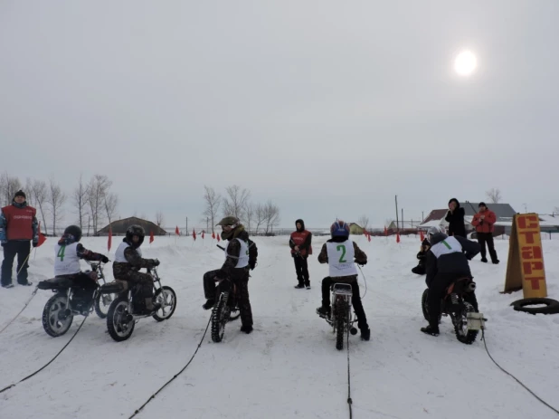
[[[547,297],[544,252],[537,214],[516,214],[508,243],[505,290],[523,290],[525,299]]]

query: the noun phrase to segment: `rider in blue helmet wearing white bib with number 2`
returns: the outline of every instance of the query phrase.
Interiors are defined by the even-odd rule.
[[[330,275],[322,280],[322,306],[317,308],[317,314],[323,318],[330,315],[330,286],[336,282],[350,284],[352,288],[351,303],[355,309],[361,338],[369,340],[371,330],[367,325],[365,309],[363,309],[363,303],[359,295],[357,270],[354,263],[355,259],[356,263],[365,265],[367,255],[359,249],[355,242],[349,240],[349,225],[342,220],[338,220],[330,226],[330,235],[332,238],[322,245],[318,255],[318,262],[328,263]],[[343,251],[340,252],[340,249],[343,249]]]

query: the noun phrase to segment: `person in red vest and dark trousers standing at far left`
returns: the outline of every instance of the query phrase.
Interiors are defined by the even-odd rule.
[[[37,229],[37,210],[27,205],[26,196],[19,190],[14,195],[12,205],[2,208],[0,214],[0,243],[4,248],[1,282],[4,288],[13,288],[12,269],[17,254],[17,282],[20,285],[32,285],[27,281],[27,260],[33,241],[33,247],[39,243]]]

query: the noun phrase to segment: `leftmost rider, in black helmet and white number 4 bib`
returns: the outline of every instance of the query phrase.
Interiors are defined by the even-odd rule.
[[[93,301],[93,291],[97,289],[97,273],[91,276],[81,271],[80,260],[109,262],[107,256],[91,252],[80,243],[81,228],[69,225],[61,239],[54,246],[54,276],[71,279],[81,289],[74,290],[72,302],[75,309],[88,313]]]

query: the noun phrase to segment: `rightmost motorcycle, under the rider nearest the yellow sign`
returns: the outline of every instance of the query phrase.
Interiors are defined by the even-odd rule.
[[[460,278],[447,287],[441,300],[439,323],[441,323],[442,316],[450,316],[456,338],[466,345],[471,345],[476,340],[479,330],[485,329],[485,322],[488,321],[482,313],[478,312],[478,309],[467,301],[467,294],[474,290],[476,290],[476,282],[471,278]],[[424,290],[422,312],[427,321],[429,321],[428,295],[429,289]]]

